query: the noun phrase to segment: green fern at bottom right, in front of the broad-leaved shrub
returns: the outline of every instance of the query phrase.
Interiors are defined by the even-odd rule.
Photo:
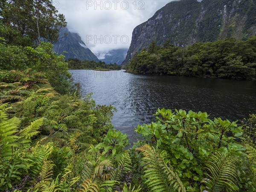
[[[206,184],[210,192],[236,191],[239,190],[236,186],[237,182],[237,163],[236,158],[226,152],[216,152],[206,162],[208,178],[203,182]]]

